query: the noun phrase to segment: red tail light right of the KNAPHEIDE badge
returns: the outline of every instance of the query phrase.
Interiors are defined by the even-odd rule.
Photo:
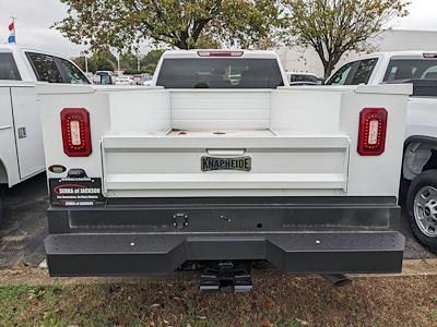
[[[358,154],[379,156],[386,147],[388,112],[383,108],[365,108],[359,114]]]

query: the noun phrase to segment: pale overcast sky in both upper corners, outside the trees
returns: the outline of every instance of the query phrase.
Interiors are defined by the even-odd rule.
[[[393,24],[399,29],[437,31],[437,1],[410,0],[410,15]],[[0,44],[8,39],[10,16],[16,17],[16,40],[21,45],[45,49],[68,57],[83,48],[50,29],[54,22],[67,15],[59,0],[0,0]]]

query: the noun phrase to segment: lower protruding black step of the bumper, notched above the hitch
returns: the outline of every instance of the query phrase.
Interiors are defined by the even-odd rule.
[[[400,272],[398,232],[52,234],[50,276],[170,274],[187,261],[268,261],[286,272]]]

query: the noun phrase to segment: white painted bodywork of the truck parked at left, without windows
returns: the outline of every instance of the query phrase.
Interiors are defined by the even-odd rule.
[[[9,186],[44,171],[46,166],[39,104],[35,90],[36,85],[42,83],[37,82],[25,51],[54,55],[0,45],[0,52],[12,53],[22,78],[0,80],[0,183]],[[26,137],[19,137],[21,128],[25,129]]]

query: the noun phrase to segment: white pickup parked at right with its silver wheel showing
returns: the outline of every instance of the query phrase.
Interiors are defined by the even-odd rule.
[[[328,85],[412,83],[401,194],[417,240],[437,252],[437,51],[399,51],[364,56],[341,66]]]

